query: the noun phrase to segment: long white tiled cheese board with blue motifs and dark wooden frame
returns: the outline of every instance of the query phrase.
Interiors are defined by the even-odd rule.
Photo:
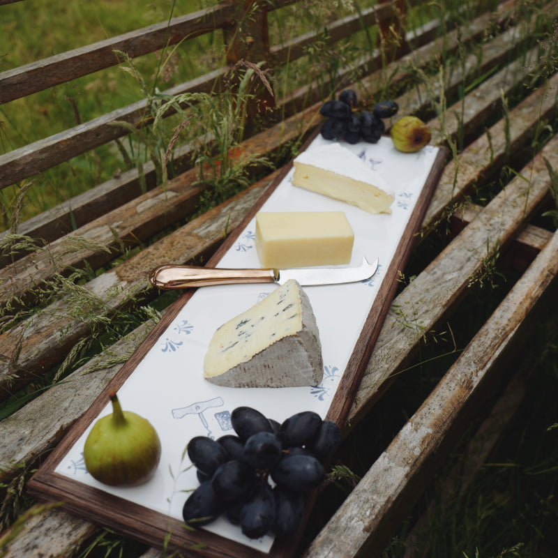
[[[331,144],[315,133],[302,151],[311,153]],[[409,257],[446,158],[443,148],[430,145],[417,153],[401,153],[389,137],[376,144],[358,142],[343,148],[393,190],[391,213],[372,214],[294,186],[290,163],[207,264],[229,269],[261,267],[255,246],[260,211],[345,213],[354,231],[354,245],[350,262],[340,267],[359,266],[363,258],[377,259],[378,264],[364,281],[304,287],[319,329],[322,381],[280,388],[235,388],[207,382],[204,355],[213,333],[278,287],[250,283],[187,289],[33,476],[29,488],[34,495],[63,501],[68,511],[145,543],[169,545],[192,555],[292,554],[296,541],[279,541],[269,534],[248,538],[223,518],[200,529],[187,529],[182,507],[199,481],[185,450],[195,436],[217,439],[232,433],[231,412],[241,406],[259,409],[279,423],[296,412],[312,410],[342,428],[395,294],[398,272]],[[110,412],[114,391],[122,406],[148,418],[161,438],[155,476],[133,488],[103,485],[84,466],[85,439],[93,423]]]

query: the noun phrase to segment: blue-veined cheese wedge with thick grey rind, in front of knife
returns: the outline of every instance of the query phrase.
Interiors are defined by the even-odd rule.
[[[323,375],[316,318],[295,280],[220,326],[204,359],[204,378],[218,386],[315,386]]]

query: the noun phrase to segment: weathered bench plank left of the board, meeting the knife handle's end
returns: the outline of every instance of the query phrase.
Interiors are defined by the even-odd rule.
[[[86,285],[71,285],[56,302],[1,334],[0,400],[62,361],[78,340],[94,331],[89,316],[109,316],[131,299],[153,291],[147,279],[151,269],[163,261],[202,263],[223,242],[225,231],[240,223],[271,179],[273,175]]]

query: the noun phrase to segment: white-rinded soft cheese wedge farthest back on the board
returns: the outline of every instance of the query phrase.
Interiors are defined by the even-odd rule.
[[[391,213],[393,193],[382,176],[338,143],[308,149],[296,157],[292,184],[368,213]]]

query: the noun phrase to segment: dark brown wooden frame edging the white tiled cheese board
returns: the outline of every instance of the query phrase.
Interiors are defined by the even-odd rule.
[[[314,133],[305,142],[306,149],[319,133]],[[382,328],[391,301],[398,285],[398,272],[402,271],[414,246],[413,238],[420,227],[425,215],[432,193],[437,186],[442,174],[444,163],[447,158],[447,150],[439,148],[435,162],[430,169],[428,179],[425,181],[421,194],[405,227],[395,255],[386,271],[382,285],[379,287],[375,301],[372,304],[368,317],[365,321],[361,334],[356,341],[352,355],[349,358],[342,379],[331,402],[327,418],[335,421],[343,428],[352,403],[359,389],[363,372],[368,365],[372,349]],[[271,196],[273,191],[281,183],[282,179],[292,168],[292,161],[282,168],[276,179],[270,184],[264,195],[260,197],[251,211],[246,215],[236,229],[223,242],[223,245],[209,259],[206,266],[216,266],[229,248],[232,248],[240,232],[250,223],[250,220],[259,211],[264,202]],[[50,502],[62,502],[66,511],[75,513],[80,517],[98,525],[105,525],[119,531],[125,536],[136,538],[149,545],[168,550],[188,552],[188,555],[200,557],[235,557],[235,558],[287,558],[292,556],[296,549],[298,538],[288,544],[275,541],[269,553],[255,550],[229,538],[213,534],[204,529],[192,530],[186,527],[184,522],[170,518],[167,515],[153,511],[139,504],[121,499],[107,492],[98,490],[72,478],[68,478],[55,472],[61,459],[70,451],[77,439],[79,439],[89,425],[97,418],[98,414],[105,408],[110,400],[110,393],[118,391],[133,374],[137,365],[144,356],[155,345],[169,324],[178,315],[179,311],[193,296],[195,289],[181,294],[169,307],[163,318],[146,336],[140,347],[130,356],[130,359],[122,366],[112,382],[107,385],[102,393],[96,398],[91,407],[76,421],[66,437],[61,441],[47,458],[45,463],[38,469],[29,481],[29,492],[38,499]],[[312,508],[314,498],[308,499],[306,518]]]

